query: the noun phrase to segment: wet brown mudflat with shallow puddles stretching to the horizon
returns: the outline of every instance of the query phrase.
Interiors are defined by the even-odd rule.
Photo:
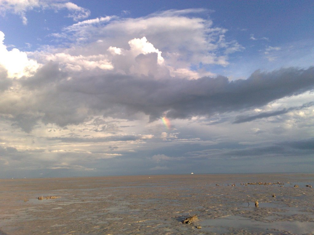
[[[0,235],[314,234],[306,185],[314,174],[2,179]]]

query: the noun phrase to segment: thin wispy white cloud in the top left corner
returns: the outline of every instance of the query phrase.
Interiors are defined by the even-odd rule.
[[[1,0],[0,15],[5,15],[6,12],[17,14],[22,18],[24,25],[27,24],[26,12],[36,8],[49,8],[56,11],[67,9],[70,12],[67,17],[73,18],[74,21],[89,17],[90,11],[88,9],[67,1],[68,0]]]

